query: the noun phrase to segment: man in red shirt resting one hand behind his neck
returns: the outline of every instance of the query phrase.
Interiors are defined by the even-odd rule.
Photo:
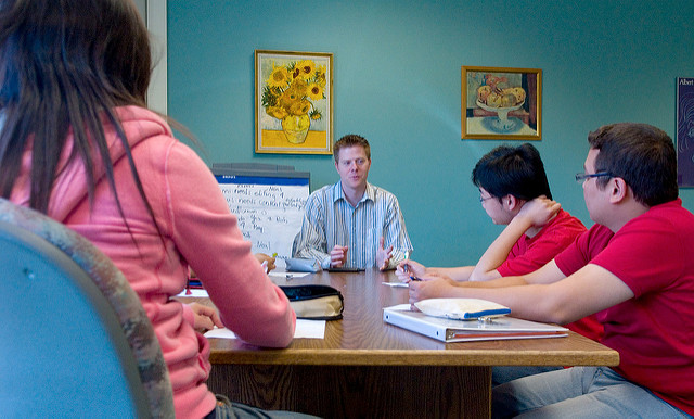
[[[403,261],[396,270],[400,280],[408,281],[411,275],[424,280],[449,278],[449,282],[441,283],[439,296],[454,296],[458,281],[487,281],[532,272],[586,231],[578,218],[552,201],[540,153],[530,143],[502,145],[485,154],[475,165],[472,180],[479,188],[479,202],[487,215],[506,228],[475,266],[434,268]],[[602,326],[592,317],[567,327],[593,340],[602,337]],[[548,369],[555,368],[513,369],[513,372],[505,369],[503,376],[496,369],[494,382]]]

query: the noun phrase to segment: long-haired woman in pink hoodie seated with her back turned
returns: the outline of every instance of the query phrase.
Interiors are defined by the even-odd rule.
[[[205,163],[146,110],[147,36],[131,0],[0,0],[0,190],[113,259],[154,326],[177,417],[220,416],[234,407],[205,385],[197,308],[171,299],[189,266],[250,344],[288,345],[296,318]]]

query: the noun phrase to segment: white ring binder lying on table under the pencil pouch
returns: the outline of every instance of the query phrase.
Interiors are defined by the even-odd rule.
[[[562,338],[568,329],[501,316],[454,320],[412,312],[409,304],[383,309],[383,321],[442,342],[493,341],[504,339]]]

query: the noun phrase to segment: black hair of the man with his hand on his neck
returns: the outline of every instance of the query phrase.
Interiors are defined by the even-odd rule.
[[[525,201],[540,195],[552,199],[540,153],[529,143],[501,145],[485,154],[475,165],[472,180],[497,199],[507,194]]]

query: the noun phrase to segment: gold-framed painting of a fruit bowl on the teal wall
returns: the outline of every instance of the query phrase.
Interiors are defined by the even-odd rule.
[[[461,138],[542,139],[542,69],[461,67]]]

